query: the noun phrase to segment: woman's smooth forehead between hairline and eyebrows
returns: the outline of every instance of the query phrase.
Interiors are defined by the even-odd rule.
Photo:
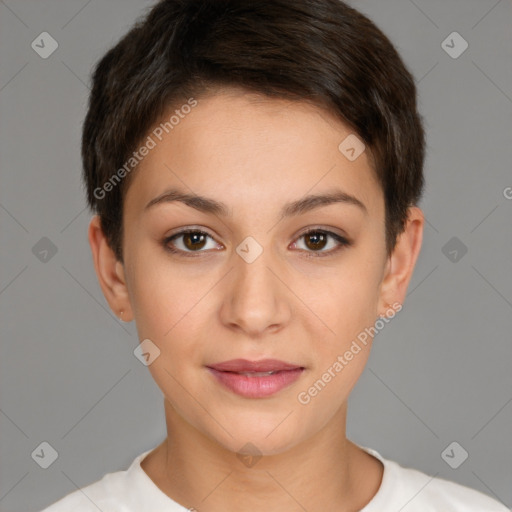
[[[155,145],[133,176],[130,208],[143,210],[176,186],[227,204],[258,205],[335,186],[379,208],[369,152],[347,158],[344,141],[362,142],[326,110],[236,89],[196,101],[193,108],[173,106],[149,132]]]

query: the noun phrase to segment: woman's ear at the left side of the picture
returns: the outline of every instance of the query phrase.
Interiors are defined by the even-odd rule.
[[[133,312],[126,287],[124,266],[108,245],[98,215],[95,215],[89,224],[88,238],[103,295],[114,314],[121,317],[122,312],[121,320],[130,322],[133,320]]]

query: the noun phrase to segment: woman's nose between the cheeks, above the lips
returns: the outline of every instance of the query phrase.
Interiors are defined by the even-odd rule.
[[[291,297],[276,261],[267,251],[252,263],[238,254],[233,259],[220,311],[224,325],[252,338],[281,330],[290,321]]]

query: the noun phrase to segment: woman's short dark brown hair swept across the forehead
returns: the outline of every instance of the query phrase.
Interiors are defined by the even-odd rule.
[[[312,102],[354,130],[384,193],[391,254],[421,197],[425,136],[389,39],[339,0],[162,0],[97,63],[83,126],[88,204],[117,258],[133,176],[119,170],[172,105],[223,86]]]

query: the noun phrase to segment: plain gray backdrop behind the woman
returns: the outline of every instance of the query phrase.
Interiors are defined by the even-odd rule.
[[[0,1],[2,511],[40,510],[165,436],[135,326],[97,283],[80,185],[90,69],[151,3]],[[510,507],[512,4],[351,3],[415,75],[428,153],[423,249],[353,392],[348,434]],[[31,48],[43,31],[59,44],[47,59]],[[456,59],[441,46],[453,31],[469,43]],[[42,237],[57,249],[46,261],[33,252]],[[48,469],[31,457],[43,441],[59,454]],[[458,469],[441,457],[453,441],[469,453]]]

